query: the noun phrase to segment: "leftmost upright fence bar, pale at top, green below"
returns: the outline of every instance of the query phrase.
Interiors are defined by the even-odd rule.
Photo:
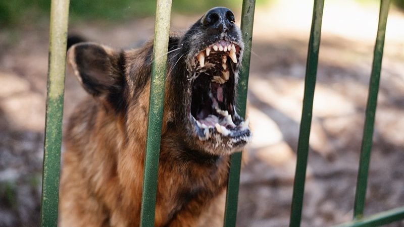
[[[68,18],[69,0],[52,0],[43,151],[41,226],[56,226],[58,223]]]

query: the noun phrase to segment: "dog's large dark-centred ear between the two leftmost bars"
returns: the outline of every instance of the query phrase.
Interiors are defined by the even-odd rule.
[[[124,79],[124,61],[110,47],[95,43],[79,43],[68,51],[68,61],[84,89],[94,95],[108,95],[119,89]]]

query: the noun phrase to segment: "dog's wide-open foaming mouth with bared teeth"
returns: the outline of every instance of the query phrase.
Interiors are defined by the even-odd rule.
[[[199,140],[217,140],[217,135],[240,145],[249,140],[248,120],[243,121],[234,106],[241,55],[238,44],[221,40],[195,56],[190,114]]]

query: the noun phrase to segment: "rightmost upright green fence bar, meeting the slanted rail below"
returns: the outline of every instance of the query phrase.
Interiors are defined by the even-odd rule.
[[[368,103],[366,106],[366,118],[364,134],[361,147],[361,158],[357,180],[357,190],[355,194],[354,218],[363,216],[366,198],[366,187],[368,184],[368,171],[370,153],[372,150],[373,127],[375,123],[377,94],[379,91],[380,71],[383,58],[384,36],[386,33],[386,23],[390,0],[381,0],[379,12],[379,24],[375,50],[373,54],[373,65],[369,83]]]

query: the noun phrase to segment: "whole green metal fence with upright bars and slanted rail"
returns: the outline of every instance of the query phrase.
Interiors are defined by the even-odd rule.
[[[51,4],[41,226],[56,226],[58,223],[60,153],[69,0],[52,0]],[[338,226],[377,226],[404,219],[404,207],[384,211],[370,217],[363,217],[389,4],[390,0],[381,0],[379,25],[369,85],[364,136],[359,164],[354,220]],[[313,21],[306,67],[305,92],[297,148],[290,226],[299,226],[301,221],[323,7],[324,0],[314,1]],[[254,11],[255,1],[244,0],[242,5],[241,30],[244,42],[247,46],[251,46]],[[167,51],[168,46],[170,14],[171,0],[157,0],[154,55],[164,57],[154,58],[156,61],[154,62],[153,75],[151,76],[149,121],[147,124],[148,130],[140,221],[141,226],[153,226],[155,218],[157,166],[160,152],[164,81],[167,60],[166,55],[163,53]],[[244,58],[242,62],[243,67],[240,72],[240,80],[238,84],[239,93],[237,99],[238,106],[240,107],[240,116],[242,117],[245,117],[249,61],[250,49],[246,48],[244,50]],[[150,121],[150,119],[153,119],[153,121]],[[231,156],[228,190],[226,195],[225,226],[235,226],[236,224],[240,166],[241,153],[238,152]]]

